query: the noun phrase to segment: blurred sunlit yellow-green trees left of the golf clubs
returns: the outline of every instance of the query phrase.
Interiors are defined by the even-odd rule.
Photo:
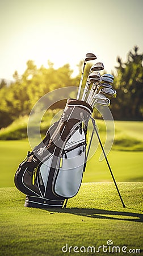
[[[69,64],[58,69],[53,68],[53,63],[48,61],[49,68],[41,66],[37,69],[34,61],[27,61],[27,68],[20,76],[14,72],[15,82],[5,86],[1,82],[0,93],[0,129],[6,127],[20,115],[28,115],[33,105],[44,94],[65,86],[74,86],[74,79],[71,77],[72,70]],[[59,102],[58,108],[62,108]]]

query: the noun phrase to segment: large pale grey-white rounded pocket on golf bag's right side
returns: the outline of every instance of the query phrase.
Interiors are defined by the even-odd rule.
[[[78,193],[81,186],[85,164],[85,145],[66,150],[62,155],[61,166],[54,181],[54,193],[57,196],[70,198]]]

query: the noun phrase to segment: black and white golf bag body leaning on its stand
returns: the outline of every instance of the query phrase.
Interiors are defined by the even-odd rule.
[[[87,102],[68,99],[60,120],[38,146],[28,151],[14,177],[16,187],[26,194],[26,207],[62,208],[77,195],[86,168],[91,114]]]

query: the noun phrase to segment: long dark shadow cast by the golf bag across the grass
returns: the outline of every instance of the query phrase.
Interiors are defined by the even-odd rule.
[[[44,209],[49,213],[69,213],[78,216],[84,216],[89,218],[101,218],[108,220],[123,220],[123,221],[135,221],[143,222],[143,214],[132,213],[132,212],[116,212],[113,210],[103,210],[103,209],[86,209],[86,208],[65,208],[65,209]]]

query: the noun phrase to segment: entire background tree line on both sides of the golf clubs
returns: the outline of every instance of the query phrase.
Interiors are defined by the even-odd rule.
[[[113,88],[117,91],[117,98],[112,99],[110,106],[114,119],[142,120],[143,117],[143,53],[134,46],[128,52],[127,60],[123,62],[117,57],[116,71]],[[79,63],[79,74],[72,77],[72,69],[65,64],[58,69],[53,68],[53,63],[48,61],[48,68],[43,65],[37,68],[34,61],[27,61],[27,68],[20,76],[14,72],[14,82],[7,86],[5,80],[0,83],[0,129],[8,126],[19,116],[28,115],[33,105],[45,93],[54,89],[67,86],[78,86],[81,77],[82,61]],[[87,64],[85,78],[91,64]],[[57,106],[64,108],[62,102]]]

